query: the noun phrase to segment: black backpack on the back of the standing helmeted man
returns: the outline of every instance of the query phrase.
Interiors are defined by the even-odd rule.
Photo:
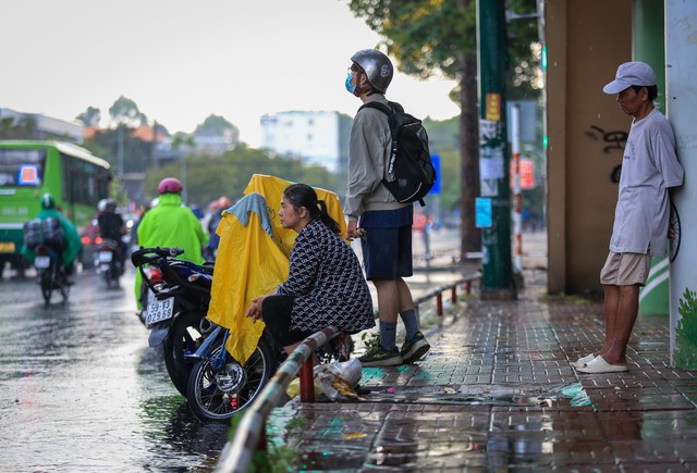
[[[398,202],[418,201],[426,204],[424,197],[436,183],[436,169],[428,150],[428,135],[421,121],[404,112],[396,102],[390,107],[380,102],[364,103],[360,109],[377,109],[388,115],[392,134],[392,152],[388,163],[388,173],[392,181],[382,179],[382,184],[394,196]]]

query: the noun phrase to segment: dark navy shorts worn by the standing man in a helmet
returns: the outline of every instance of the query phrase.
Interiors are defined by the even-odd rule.
[[[366,279],[398,279],[414,274],[412,265],[412,206],[363,214],[360,239]]]

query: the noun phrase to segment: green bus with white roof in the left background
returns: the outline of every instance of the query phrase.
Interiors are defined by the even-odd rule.
[[[24,223],[50,194],[81,232],[97,202],[109,197],[111,165],[84,148],[61,141],[0,140],[0,277],[7,262],[23,273]]]

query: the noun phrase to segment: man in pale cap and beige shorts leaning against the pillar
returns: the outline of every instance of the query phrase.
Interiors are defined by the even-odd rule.
[[[658,96],[653,70],[643,62],[625,62],[602,91],[616,94],[620,108],[634,120],[624,147],[610,254],[600,272],[604,346],[574,363],[580,373],[627,371],[626,349],[639,310],[639,288],[646,284],[651,257],[665,253],[668,189],[682,185],[684,175],[673,128],[653,104]]]

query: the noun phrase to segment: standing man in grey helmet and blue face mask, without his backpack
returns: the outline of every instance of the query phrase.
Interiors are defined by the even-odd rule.
[[[384,94],[392,80],[392,62],[382,52],[364,49],[351,58],[345,86],[364,103],[389,105]],[[380,338],[359,360],[364,366],[391,366],[423,358],[430,345],[418,327],[412,292],[404,277],[413,274],[413,207],[400,203],[382,184],[392,138],[388,116],[364,108],[356,113],[348,142],[348,191],[344,213],[348,239],[360,238],[366,278],[378,292]],[[396,348],[398,314],[406,331]]]

